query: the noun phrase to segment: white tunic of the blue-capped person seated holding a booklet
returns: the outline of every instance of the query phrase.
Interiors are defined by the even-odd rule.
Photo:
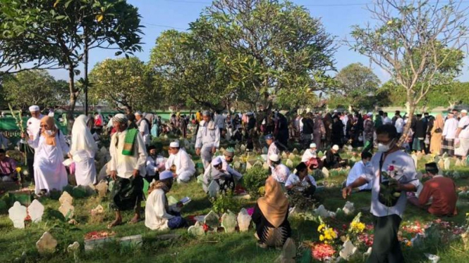
[[[156,189],[147,197],[145,205],[145,226],[152,230],[169,229],[168,220],[172,214],[166,212],[166,195],[162,189]],[[169,210],[178,212],[176,205],[171,205]]]

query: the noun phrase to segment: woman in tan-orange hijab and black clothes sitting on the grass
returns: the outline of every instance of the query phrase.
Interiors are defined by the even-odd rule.
[[[291,236],[288,200],[274,177],[265,182],[265,195],[257,199],[252,222],[256,224],[255,237],[261,248],[280,248]]]

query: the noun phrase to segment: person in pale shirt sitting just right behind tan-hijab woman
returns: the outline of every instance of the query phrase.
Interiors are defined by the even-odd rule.
[[[300,191],[307,197],[312,197],[316,191],[315,178],[307,174],[307,166],[304,162],[300,162],[296,166],[296,173],[290,174],[285,183],[286,190]]]

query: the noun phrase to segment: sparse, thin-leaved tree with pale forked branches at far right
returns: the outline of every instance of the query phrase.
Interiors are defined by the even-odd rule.
[[[456,1],[445,3],[377,0],[368,7],[375,25],[355,25],[355,41],[348,41],[405,89],[409,120],[434,86],[452,82],[461,70],[467,14]]]

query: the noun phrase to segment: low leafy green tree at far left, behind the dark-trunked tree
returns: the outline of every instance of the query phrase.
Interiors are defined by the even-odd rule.
[[[29,70],[7,77],[3,83],[6,101],[14,108],[30,105],[56,108],[61,105],[60,84],[46,70]]]

